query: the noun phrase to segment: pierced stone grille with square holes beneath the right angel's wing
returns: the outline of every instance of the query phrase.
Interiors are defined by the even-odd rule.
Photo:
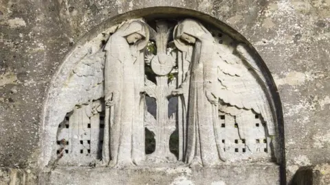
[[[240,125],[236,123],[234,116],[219,112],[219,136],[224,144],[226,157],[230,161],[234,160],[256,160],[260,158],[271,158],[270,138],[267,137],[265,123],[259,115],[250,112],[250,123]],[[241,129],[239,129],[241,127]],[[245,136],[241,130],[244,130]]]

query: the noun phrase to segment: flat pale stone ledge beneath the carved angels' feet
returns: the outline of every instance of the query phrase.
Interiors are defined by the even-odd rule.
[[[107,169],[56,167],[41,173],[41,184],[280,184],[276,164],[244,164],[219,168],[188,167]]]

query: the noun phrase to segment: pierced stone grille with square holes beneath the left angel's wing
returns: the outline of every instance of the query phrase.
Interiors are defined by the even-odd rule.
[[[89,165],[101,159],[104,112],[87,116],[87,106],[75,108],[58,125],[56,157],[59,164]]]

